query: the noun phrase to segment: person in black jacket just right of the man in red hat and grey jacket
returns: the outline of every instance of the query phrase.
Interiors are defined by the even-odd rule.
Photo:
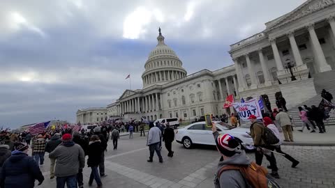
[[[89,155],[89,159],[87,159],[87,166],[91,167],[91,175],[89,175],[89,186],[92,185],[93,180],[96,180],[96,184],[98,185],[97,188],[101,188],[103,187],[103,183],[101,182],[101,178],[98,172],[98,166],[101,163],[101,155],[103,155],[105,150],[103,150],[103,146],[98,135],[91,136],[87,152]]]

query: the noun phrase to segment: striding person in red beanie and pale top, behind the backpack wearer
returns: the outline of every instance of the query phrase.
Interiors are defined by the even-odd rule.
[[[283,143],[283,139],[281,137],[281,134],[279,134],[278,128],[276,127],[276,125],[274,125],[274,122],[271,120],[271,118],[265,117],[265,118],[263,118],[263,123],[272,132],[274,132],[274,135],[276,135],[276,137],[279,140],[279,142],[276,145],[274,145],[274,146],[276,146],[276,148],[275,148],[276,152],[279,152],[279,153],[283,154],[283,156],[286,159],[288,159],[290,162],[292,162],[292,168],[295,168],[299,164],[299,161],[297,161],[295,158],[291,157],[290,155],[288,155],[287,153],[285,153],[281,150],[281,144]],[[269,169],[271,169],[271,166],[267,166],[267,167]]]

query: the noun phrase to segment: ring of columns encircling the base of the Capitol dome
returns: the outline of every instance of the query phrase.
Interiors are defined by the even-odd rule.
[[[186,77],[184,72],[177,70],[163,70],[158,72],[152,72],[143,77],[143,85],[153,84],[157,81],[172,81]]]

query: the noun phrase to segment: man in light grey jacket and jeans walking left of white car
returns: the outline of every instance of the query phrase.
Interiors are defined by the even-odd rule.
[[[159,142],[161,141],[162,132],[154,123],[149,123],[149,132],[147,137],[147,146],[149,146],[150,157],[147,162],[153,162],[154,152],[156,151],[160,163],[163,163],[161,150],[159,149]]]

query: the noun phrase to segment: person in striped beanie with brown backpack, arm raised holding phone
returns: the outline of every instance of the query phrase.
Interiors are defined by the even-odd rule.
[[[246,157],[246,152],[240,149],[239,141],[234,139],[234,136],[219,134],[216,125],[213,125],[211,130],[216,148],[221,154],[214,178],[216,188],[279,188],[279,185],[267,176],[267,169]]]

